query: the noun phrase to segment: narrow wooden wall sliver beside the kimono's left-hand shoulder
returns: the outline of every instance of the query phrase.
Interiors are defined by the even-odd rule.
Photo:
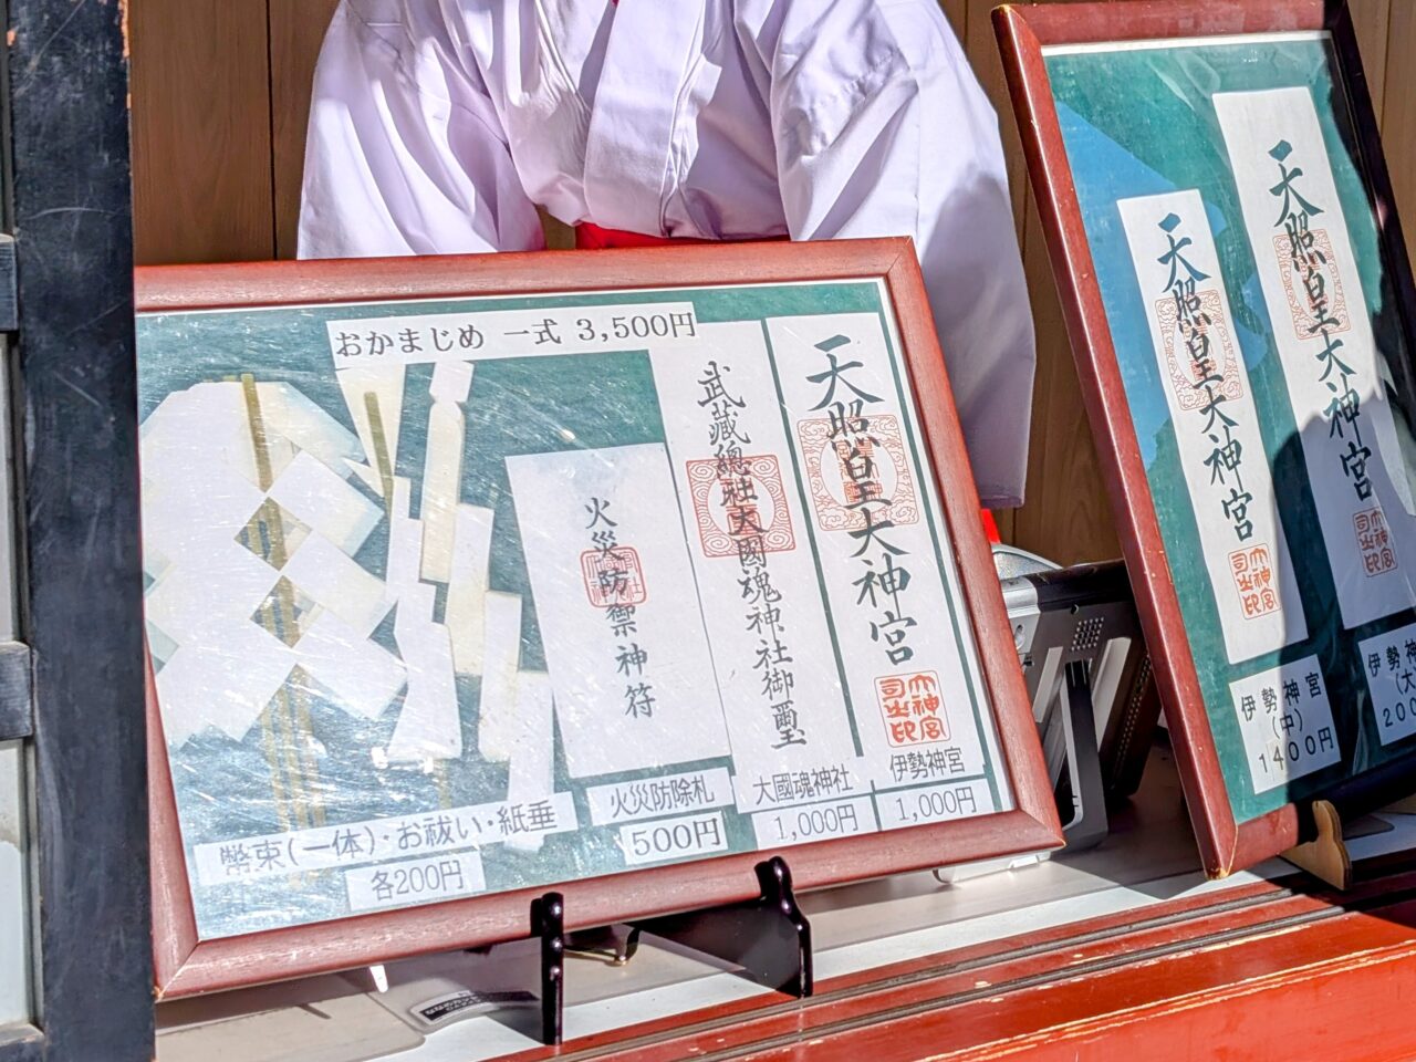
[[[238,0],[242,1],[242,0]],[[310,85],[324,27],[338,0],[268,0],[270,4],[270,173],[275,195],[275,256],[295,258],[304,171]]]

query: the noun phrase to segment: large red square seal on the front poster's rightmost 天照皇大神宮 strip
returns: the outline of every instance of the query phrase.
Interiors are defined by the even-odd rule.
[[[871,513],[877,524],[919,523],[919,497],[905,455],[899,419],[889,413],[862,419],[851,436],[833,435],[830,421],[799,421],[797,439],[816,523],[823,531],[865,527],[862,501],[879,501]]]

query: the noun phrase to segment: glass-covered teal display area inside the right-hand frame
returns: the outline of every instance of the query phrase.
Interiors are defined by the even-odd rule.
[[[1409,350],[1325,33],[1045,47],[1240,821],[1410,752]]]

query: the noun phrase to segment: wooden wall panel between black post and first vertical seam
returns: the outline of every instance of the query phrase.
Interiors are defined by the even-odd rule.
[[[273,258],[266,0],[135,0],[130,18],[137,263]]]

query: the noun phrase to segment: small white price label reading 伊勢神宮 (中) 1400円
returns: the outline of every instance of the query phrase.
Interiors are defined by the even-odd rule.
[[[1255,793],[1311,775],[1341,758],[1317,657],[1229,684]]]

